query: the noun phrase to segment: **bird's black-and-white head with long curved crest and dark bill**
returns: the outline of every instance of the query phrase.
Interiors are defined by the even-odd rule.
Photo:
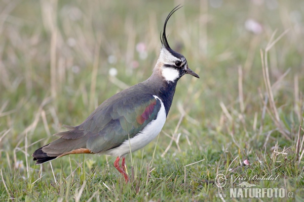
[[[197,78],[200,78],[194,71],[192,71],[187,64],[185,57],[171,49],[166,37],[166,25],[171,15],[180,9],[181,7],[175,7],[168,15],[165,24],[164,32],[161,34],[162,49],[157,61],[156,69],[162,75],[162,77],[169,82],[176,82],[180,77],[185,74],[190,74]]]

